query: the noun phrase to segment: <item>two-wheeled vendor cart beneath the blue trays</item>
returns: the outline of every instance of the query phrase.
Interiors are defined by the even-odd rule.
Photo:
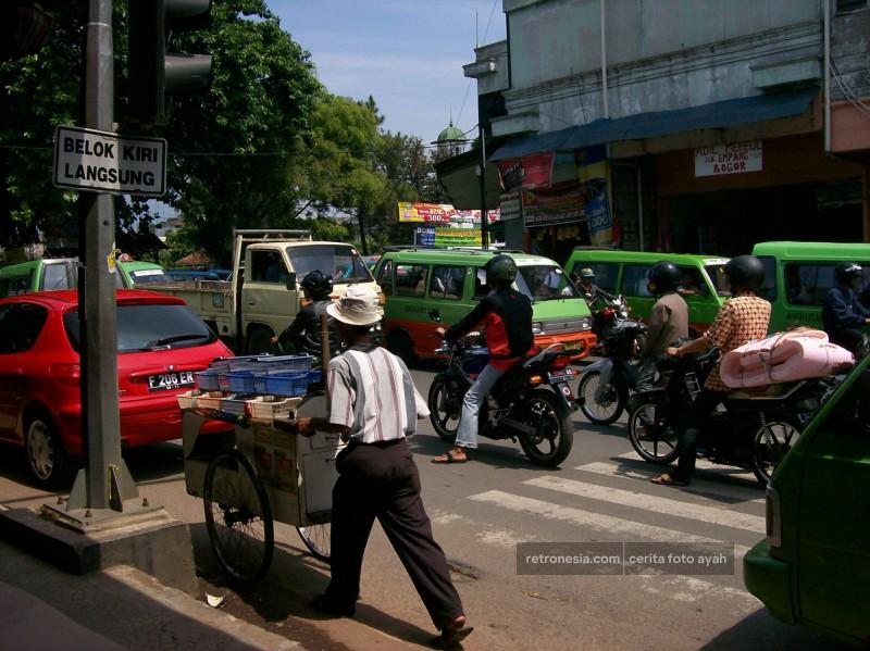
[[[254,581],[268,572],[274,522],[295,526],[311,553],[328,562],[335,459],[345,443],[337,434],[304,437],[291,428],[298,416],[325,413],[322,393],[299,398],[289,417],[183,410],[187,492],[202,498],[212,549],[234,579]],[[200,435],[207,420],[233,427]]]

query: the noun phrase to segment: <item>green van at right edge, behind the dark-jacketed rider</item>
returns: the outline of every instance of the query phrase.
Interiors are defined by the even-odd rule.
[[[841,262],[857,262],[863,267],[857,290],[862,300],[870,290],[870,245],[759,242],[753,255],[765,263],[765,286],[759,293],[773,305],[772,333],[797,325],[822,327],[822,305],[835,285],[834,267]]]

